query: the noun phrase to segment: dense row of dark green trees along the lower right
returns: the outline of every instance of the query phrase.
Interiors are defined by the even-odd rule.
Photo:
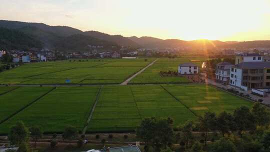
[[[270,132],[265,131],[269,124],[268,108],[257,102],[251,109],[241,106],[232,113],[205,112],[197,121],[187,121],[176,128],[170,118],[145,118],[136,134],[145,142],[145,152],[149,147],[155,152],[172,148],[175,143],[185,151],[254,151],[253,146],[259,145],[255,151],[270,151]],[[214,142],[215,138],[219,140]]]

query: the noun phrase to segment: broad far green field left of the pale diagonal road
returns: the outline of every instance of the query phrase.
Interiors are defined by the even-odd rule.
[[[0,72],[0,84],[120,83],[153,58],[88,59],[88,61],[52,61],[26,63]]]

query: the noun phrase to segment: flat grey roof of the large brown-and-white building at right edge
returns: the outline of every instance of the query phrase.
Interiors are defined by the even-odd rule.
[[[261,61],[261,62],[241,62],[235,65],[236,68],[241,69],[253,69],[253,68],[270,68],[270,62]]]

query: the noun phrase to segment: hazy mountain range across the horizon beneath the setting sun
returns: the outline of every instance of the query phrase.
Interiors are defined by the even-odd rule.
[[[254,47],[269,47],[270,40],[254,41],[219,41],[219,40],[180,40],[180,39],[160,39],[150,36],[124,37],[122,35],[109,35],[99,31],[81,31],[69,26],[50,26],[44,23],[21,22],[0,20],[0,30],[5,36],[0,36],[0,49],[17,49],[27,47],[47,47],[58,50],[85,50],[87,45],[126,46],[132,48],[188,48],[193,50],[212,48],[239,48],[247,49]],[[8,34],[8,32],[12,34]],[[27,42],[21,41],[14,46],[19,36],[27,37]],[[13,38],[7,38],[13,36]],[[29,38],[33,43],[29,43]],[[23,38],[22,38],[23,39]],[[41,44],[40,44],[41,43]],[[12,45],[11,45],[12,44]]]

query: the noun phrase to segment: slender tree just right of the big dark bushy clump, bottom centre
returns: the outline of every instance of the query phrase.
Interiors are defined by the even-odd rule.
[[[189,140],[193,137],[192,135],[192,121],[186,121],[184,125],[182,125],[179,130],[181,131],[180,133],[180,138],[181,142],[185,144],[185,148],[188,147],[188,142]]]

